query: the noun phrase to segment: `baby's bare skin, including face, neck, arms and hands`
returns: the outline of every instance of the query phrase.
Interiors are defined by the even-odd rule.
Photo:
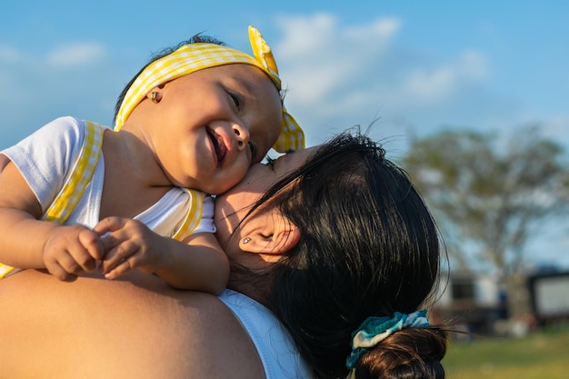
[[[101,221],[93,230],[37,221],[41,207],[35,195],[13,164],[5,167],[0,226],[10,241],[5,239],[3,247],[19,254],[0,256],[0,262],[46,267],[60,279],[72,280],[102,261],[99,268],[108,279],[137,268],[176,288],[217,294],[225,287],[228,264],[213,234],[192,234],[180,243],[132,217],[173,186],[225,192],[263,159],[281,126],[280,95],[253,65],[221,65],[159,85],[120,131],[105,131]]]

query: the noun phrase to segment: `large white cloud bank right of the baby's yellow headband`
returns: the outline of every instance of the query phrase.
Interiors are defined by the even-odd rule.
[[[402,124],[444,124],[467,107],[476,114],[474,97],[488,95],[483,52],[464,49],[444,59],[396,44],[404,27],[399,18],[341,25],[334,15],[318,14],[282,17],[277,25],[284,35],[274,48],[290,89],[286,104],[308,125],[309,143],[330,126],[368,125],[378,116],[383,136],[401,135]],[[386,130],[385,121],[395,119],[399,124]]]

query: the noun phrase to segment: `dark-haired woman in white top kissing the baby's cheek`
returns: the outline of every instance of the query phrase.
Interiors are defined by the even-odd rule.
[[[370,316],[411,318],[438,274],[434,221],[381,147],[344,134],[254,165],[216,199],[215,222],[237,291],[219,298],[135,272],[2,281],[0,377],[444,377],[437,327],[351,345]]]

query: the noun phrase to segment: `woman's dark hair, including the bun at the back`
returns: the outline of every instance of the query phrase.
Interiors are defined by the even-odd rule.
[[[260,300],[318,378],[345,378],[351,334],[364,319],[416,311],[438,278],[434,219],[384,155],[358,130],[338,135],[256,204],[275,204],[301,231]],[[444,378],[445,346],[443,329],[404,329],[364,353],[355,377]]]

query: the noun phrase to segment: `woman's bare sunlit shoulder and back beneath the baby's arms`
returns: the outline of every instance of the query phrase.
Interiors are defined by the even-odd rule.
[[[0,281],[0,304],[0,378],[265,378],[225,304],[151,275],[64,283],[29,270]]]

